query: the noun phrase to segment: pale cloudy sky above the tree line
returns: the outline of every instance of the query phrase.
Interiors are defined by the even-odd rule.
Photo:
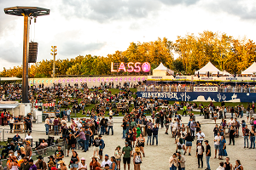
[[[253,0],[0,0],[0,71],[21,65],[23,18],[3,8],[38,6],[50,14],[32,22],[30,40],[38,42],[38,61],[92,54],[113,54],[130,42],[157,37],[220,31],[256,42],[256,1]]]

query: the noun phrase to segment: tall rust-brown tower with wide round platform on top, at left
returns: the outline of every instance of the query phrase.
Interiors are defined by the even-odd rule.
[[[23,35],[23,72],[22,72],[22,103],[28,103],[28,53],[29,53],[29,24],[30,17],[49,14],[49,9],[38,7],[11,7],[4,8],[5,14],[12,14],[24,17]]]

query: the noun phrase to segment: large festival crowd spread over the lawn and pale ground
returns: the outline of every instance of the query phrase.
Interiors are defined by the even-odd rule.
[[[15,86],[7,86],[9,89],[15,88]],[[17,87],[16,87],[17,88]],[[55,150],[54,156],[49,156],[49,161],[46,163],[43,157],[38,156],[38,161],[33,164],[31,159],[32,149],[30,143],[30,137],[28,137],[23,143],[19,143],[15,149],[15,141],[19,140],[19,134],[14,137],[14,142],[11,142],[2,151],[2,158],[9,157],[8,167],[9,169],[121,169],[121,162],[123,162],[124,169],[130,170],[131,162],[133,162],[134,169],[140,170],[143,162],[143,157],[146,156],[144,147],[146,145],[158,145],[158,134],[160,128],[166,128],[166,135],[171,134],[176,144],[176,150],[173,150],[173,155],[170,158],[170,169],[185,169],[186,167],[186,154],[188,156],[196,156],[198,159],[198,167],[203,167],[203,155],[206,155],[207,170],[210,167],[211,146],[209,140],[205,140],[205,133],[201,127],[201,122],[196,122],[196,116],[193,110],[200,110],[200,116],[212,118],[212,122],[216,123],[217,119],[222,119],[220,124],[216,124],[213,128],[212,143],[214,143],[214,158],[223,160],[219,163],[218,169],[243,169],[240,160],[236,160],[234,165],[231,165],[230,158],[226,151],[226,147],[232,147],[235,145],[235,139],[242,136],[244,138],[244,147],[249,147],[248,139],[250,139],[250,148],[255,148],[255,127],[256,121],[254,120],[253,113],[255,109],[254,104],[248,104],[247,106],[237,105],[236,107],[225,106],[224,102],[221,106],[215,106],[211,102],[210,105],[197,105],[196,103],[179,102],[176,101],[173,105],[169,105],[169,102],[161,99],[143,99],[132,97],[132,93],[129,90],[127,84],[120,86],[118,94],[111,94],[108,90],[108,85],[102,84],[94,90],[90,90],[86,87],[86,84],[81,84],[80,88],[78,84],[74,87],[68,85],[61,86],[61,84],[55,85],[53,88],[32,87],[30,92],[30,99],[35,100],[36,103],[54,102],[54,106],[50,106],[49,110],[55,110],[55,119],[52,120],[49,117],[45,120],[45,132],[49,133],[49,123],[54,123],[55,135],[61,133],[61,139],[64,139],[67,143],[67,156],[70,156],[70,161],[64,162],[64,151],[61,149],[61,145],[58,145],[58,149]],[[98,91],[102,89],[102,92]],[[9,90],[11,95],[13,92]],[[8,93],[9,93],[8,92]],[[58,99],[58,102],[56,102]],[[81,99],[78,102],[78,99]],[[88,104],[96,104],[91,111],[86,111],[84,108]],[[73,108],[69,108],[68,105],[73,105]],[[67,109],[66,109],[67,107]],[[132,109],[130,110],[129,108]],[[61,108],[65,108],[62,112]],[[113,111],[116,108],[116,111]],[[118,108],[121,108],[118,111]],[[71,112],[83,112],[87,118],[71,118]],[[177,111],[182,110],[183,114],[178,114]],[[105,117],[106,111],[109,111],[109,118]],[[230,120],[227,120],[226,113],[231,113]],[[247,120],[238,121],[238,117],[243,117],[243,113],[246,113]],[[113,155],[103,155],[103,150],[106,146],[103,140],[103,135],[113,135],[113,116],[122,114],[123,122],[121,127],[123,129],[120,139],[124,140],[125,146],[118,145],[113,150]],[[2,116],[3,115],[3,116]],[[147,115],[151,115],[151,118],[147,118]],[[183,123],[183,116],[189,116],[188,124]],[[10,113],[2,113],[1,118],[4,124],[11,124],[12,122],[25,122],[27,123],[27,132],[32,131],[31,116],[27,116],[22,119],[21,117],[12,117]],[[70,125],[67,126],[67,123]],[[12,130],[11,125],[10,129]],[[61,128],[59,128],[61,127]],[[242,134],[239,134],[239,128],[242,127]],[[119,132],[118,132],[119,133]],[[147,141],[145,139],[147,134]],[[30,135],[28,135],[30,136]],[[230,143],[226,144],[226,138],[230,138]],[[154,143],[155,141],[155,143]],[[195,142],[194,142],[195,141]],[[38,150],[47,147],[42,142],[38,146]],[[23,145],[24,144],[24,145]],[[191,148],[195,145],[196,152],[192,153]],[[22,148],[23,147],[23,148]],[[146,146],[147,147],[147,146]],[[14,156],[14,151],[20,150],[19,156]],[[87,167],[84,157],[80,157],[77,150],[93,150],[93,156],[91,156],[90,164]],[[218,155],[217,155],[218,154]],[[67,157],[66,156],[66,157]],[[103,157],[104,156],[104,157]],[[121,159],[122,158],[122,159]],[[102,163],[100,163],[102,161]],[[20,164],[19,164],[20,162]]]

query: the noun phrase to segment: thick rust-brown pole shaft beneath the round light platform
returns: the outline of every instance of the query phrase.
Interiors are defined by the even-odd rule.
[[[28,103],[28,52],[29,52],[29,20],[28,14],[24,15],[23,35],[23,72],[22,72],[22,103]]]

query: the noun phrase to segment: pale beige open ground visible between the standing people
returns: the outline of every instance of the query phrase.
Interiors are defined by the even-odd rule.
[[[149,117],[148,117],[149,118]],[[228,117],[230,118],[230,117]],[[242,119],[238,119],[240,122],[241,120],[246,120],[246,117]],[[228,119],[229,120],[229,119]],[[227,120],[227,122],[228,122]],[[185,124],[189,121],[189,116],[184,116],[182,120]],[[210,142],[209,144],[212,146],[212,157],[210,159],[211,169],[216,169],[218,167],[218,163],[220,160],[214,159],[214,146],[213,146],[213,127],[214,127],[214,121],[210,119],[203,119],[202,116],[196,116],[196,121],[201,122],[201,129],[202,132],[206,134],[206,138]],[[121,147],[125,146],[125,140],[121,139],[122,137],[122,117],[114,117],[114,135],[104,135],[103,139],[106,144],[106,148],[103,150],[103,155],[108,154],[109,156],[113,156],[113,152],[117,145],[120,145]],[[221,120],[218,120],[218,124],[221,122]],[[1,128],[1,127],[0,127]],[[9,127],[5,127],[6,129]],[[44,133],[45,127],[44,123],[40,124],[33,124],[32,130],[38,130],[40,132],[32,132],[32,137],[35,140],[38,139],[46,139],[47,136]],[[176,144],[174,144],[174,139],[172,136],[165,134],[165,128],[160,129],[159,131],[159,145],[146,145],[145,155],[146,157],[143,158],[143,164],[141,166],[143,169],[169,169],[169,158],[172,156],[172,154],[176,150]],[[3,134],[1,134],[3,135]],[[5,133],[6,137],[13,137],[13,133]],[[25,136],[25,134],[20,134],[21,138],[24,138],[22,136]],[[2,139],[2,136],[1,136]],[[147,137],[146,137],[147,139]],[[226,139],[227,143],[229,142],[229,138]],[[249,150],[243,148],[243,138],[241,137],[241,128],[240,128],[240,137],[236,138],[236,145],[227,145],[227,153],[228,156],[230,156],[230,162],[234,165],[236,159],[241,160],[241,164],[244,167],[244,169],[256,169],[256,150]],[[90,157],[93,155],[92,148],[86,153],[82,152],[81,150],[78,150],[79,157],[84,157],[86,159],[87,165],[90,164]],[[194,170],[197,169],[197,158],[195,157],[195,141],[193,142],[192,156],[185,156],[186,158],[186,170]],[[48,161],[48,158],[45,159],[45,161]],[[65,162],[70,161],[70,157],[64,158]],[[204,169],[206,168],[206,159],[204,154]],[[123,165],[121,164],[121,169],[123,168]],[[133,169],[133,165],[131,165],[131,169]]]

